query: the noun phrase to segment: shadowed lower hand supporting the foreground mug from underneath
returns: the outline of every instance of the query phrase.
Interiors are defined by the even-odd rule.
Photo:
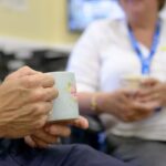
[[[70,122],[59,122],[46,124],[42,129],[38,129],[30,136],[24,137],[25,143],[31,147],[45,148],[50,144],[56,143],[59,137],[68,137],[71,134],[69,125],[80,128],[87,128],[89,123],[84,117]]]

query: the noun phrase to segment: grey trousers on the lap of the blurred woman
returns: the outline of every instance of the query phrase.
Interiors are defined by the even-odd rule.
[[[136,166],[165,166],[166,143],[139,138],[108,137],[111,154]]]

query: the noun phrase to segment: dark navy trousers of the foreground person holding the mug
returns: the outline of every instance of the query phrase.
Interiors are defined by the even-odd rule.
[[[127,166],[85,145],[56,145],[33,149],[22,139],[3,142],[0,166]]]

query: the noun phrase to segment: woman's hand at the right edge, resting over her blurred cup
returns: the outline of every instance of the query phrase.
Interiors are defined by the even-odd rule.
[[[149,79],[143,82],[143,86],[137,92],[137,101],[143,103],[154,102],[158,107],[166,106],[166,83]]]

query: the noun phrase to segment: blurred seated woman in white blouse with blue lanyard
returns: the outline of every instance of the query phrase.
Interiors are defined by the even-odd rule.
[[[165,166],[166,21],[159,17],[165,0],[120,4],[125,18],[92,23],[68,70],[76,74],[81,112],[100,115],[115,157],[137,166]],[[146,77],[146,89],[122,90],[126,75]]]

